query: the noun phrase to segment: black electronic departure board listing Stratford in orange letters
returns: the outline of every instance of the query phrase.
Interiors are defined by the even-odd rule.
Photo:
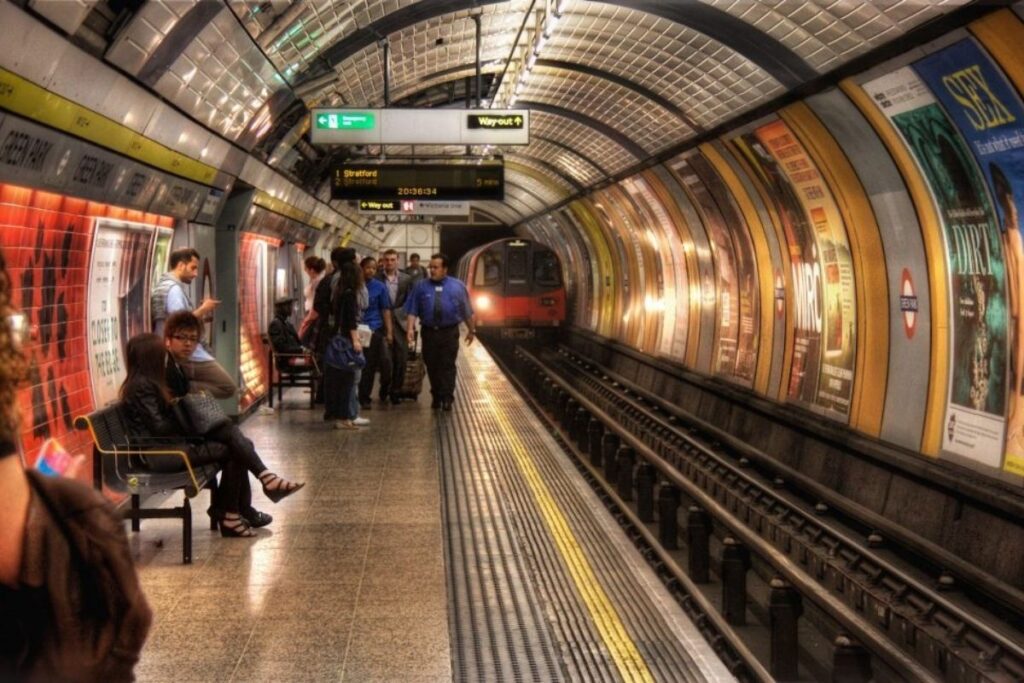
[[[336,200],[505,199],[504,164],[341,164],[333,169]]]

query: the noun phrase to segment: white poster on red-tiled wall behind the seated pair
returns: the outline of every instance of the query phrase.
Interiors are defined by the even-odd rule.
[[[96,407],[118,399],[124,344],[147,332],[147,268],[156,231],[144,223],[97,218],[89,264],[89,371]]]

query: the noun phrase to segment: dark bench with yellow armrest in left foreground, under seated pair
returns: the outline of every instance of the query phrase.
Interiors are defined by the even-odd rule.
[[[182,558],[191,563],[191,505],[203,488],[216,487],[217,465],[193,467],[188,454],[175,449],[182,439],[174,439],[171,444],[165,438],[129,440],[118,404],[90,413],[75,419],[75,427],[88,431],[92,436],[92,485],[102,490],[105,484],[111,490],[131,496],[131,507],[124,509],[125,519],[131,520],[132,531],[138,531],[142,519],[181,519]],[[202,437],[195,439],[201,442]],[[161,450],[161,444],[166,449]],[[154,472],[146,469],[140,456],[146,458],[175,458],[181,461],[179,472]],[[184,490],[184,503],[178,508],[143,508],[141,497],[151,494]],[[216,529],[215,519],[210,520],[210,528]]]

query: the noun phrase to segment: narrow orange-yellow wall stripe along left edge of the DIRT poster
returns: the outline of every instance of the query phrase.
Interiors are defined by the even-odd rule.
[[[942,443],[942,427],[945,421],[946,394],[949,382],[949,276],[946,270],[946,253],[942,245],[942,227],[931,191],[925,184],[916,163],[903,144],[902,138],[889,123],[886,116],[874,105],[867,93],[851,79],[840,83],[840,88],[857,105],[861,114],[882,138],[892,155],[903,181],[906,183],[910,200],[918,210],[921,232],[928,258],[928,285],[931,297],[932,315],[932,358],[931,377],[928,387],[928,404],[925,409],[925,429],[922,435],[921,452],[938,456]]]

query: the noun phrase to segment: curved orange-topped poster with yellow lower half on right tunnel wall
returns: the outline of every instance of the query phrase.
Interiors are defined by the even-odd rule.
[[[756,134],[785,173],[810,218],[817,256],[811,267],[817,269],[820,283],[817,327],[821,339],[821,370],[814,402],[846,416],[850,413],[857,359],[857,293],[846,225],[831,190],[788,127],[776,121],[759,128]],[[810,303],[804,302],[804,305],[810,307]],[[798,299],[798,311],[800,309]]]

